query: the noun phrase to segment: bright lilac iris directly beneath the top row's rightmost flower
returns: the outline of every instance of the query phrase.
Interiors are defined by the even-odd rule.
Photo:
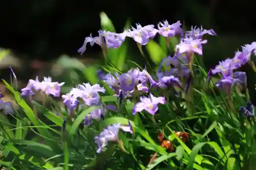
[[[199,55],[203,55],[202,44],[205,44],[206,42],[207,40],[183,38],[181,42],[176,45],[176,51],[180,54],[197,53]]]

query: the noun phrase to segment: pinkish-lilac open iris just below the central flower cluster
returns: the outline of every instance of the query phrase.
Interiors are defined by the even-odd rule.
[[[165,98],[158,97],[156,98],[153,94],[150,94],[149,98],[141,97],[139,103],[136,103],[133,108],[133,114],[146,110],[150,114],[155,114],[158,111],[158,104],[165,104]]]

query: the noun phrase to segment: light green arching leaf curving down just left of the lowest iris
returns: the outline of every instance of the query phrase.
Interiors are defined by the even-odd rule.
[[[84,117],[87,114],[91,113],[92,111],[94,111],[98,108],[99,108],[98,106],[93,106],[93,107],[88,108],[87,110],[82,111],[82,113],[79,114],[79,116],[75,119],[73,125],[71,126],[71,129],[69,131],[69,136],[73,136],[77,132],[79,125],[82,123]]]

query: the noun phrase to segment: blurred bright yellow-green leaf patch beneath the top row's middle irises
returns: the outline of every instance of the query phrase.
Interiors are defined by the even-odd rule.
[[[165,54],[164,54],[162,48],[160,47],[160,45],[153,40],[150,40],[146,44],[146,49],[147,49],[148,54],[150,55],[151,60],[155,64],[159,64],[161,62],[162,58],[165,57]]]

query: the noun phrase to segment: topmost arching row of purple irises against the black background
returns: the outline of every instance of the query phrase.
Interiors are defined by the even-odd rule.
[[[159,22],[158,29],[155,29],[154,25],[147,25],[142,27],[140,24],[136,24],[136,28],[125,30],[122,33],[113,33],[110,31],[98,31],[98,36],[86,37],[83,45],[79,48],[78,52],[83,54],[86,51],[87,43],[94,45],[95,43],[102,48],[117,48],[120,47],[126,37],[133,38],[135,42],[145,45],[150,39],[153,39],[157,33],[163,37],[174,37],[179,35],[183,37],[183,30],[181,28],[181,22],[177,21],[172,25],[169,25],[168,21]],[[205,30],[203,28],[197,29],[191,28],[191,31],[185,33],[185,37],[181,39],[181,43],[177,46],[180,53],[192,53],[196,52],[202,54],[201,44],[206,43],[206,40],[202,40],[202,36],[205,34],[216,35],[213,30]]]

